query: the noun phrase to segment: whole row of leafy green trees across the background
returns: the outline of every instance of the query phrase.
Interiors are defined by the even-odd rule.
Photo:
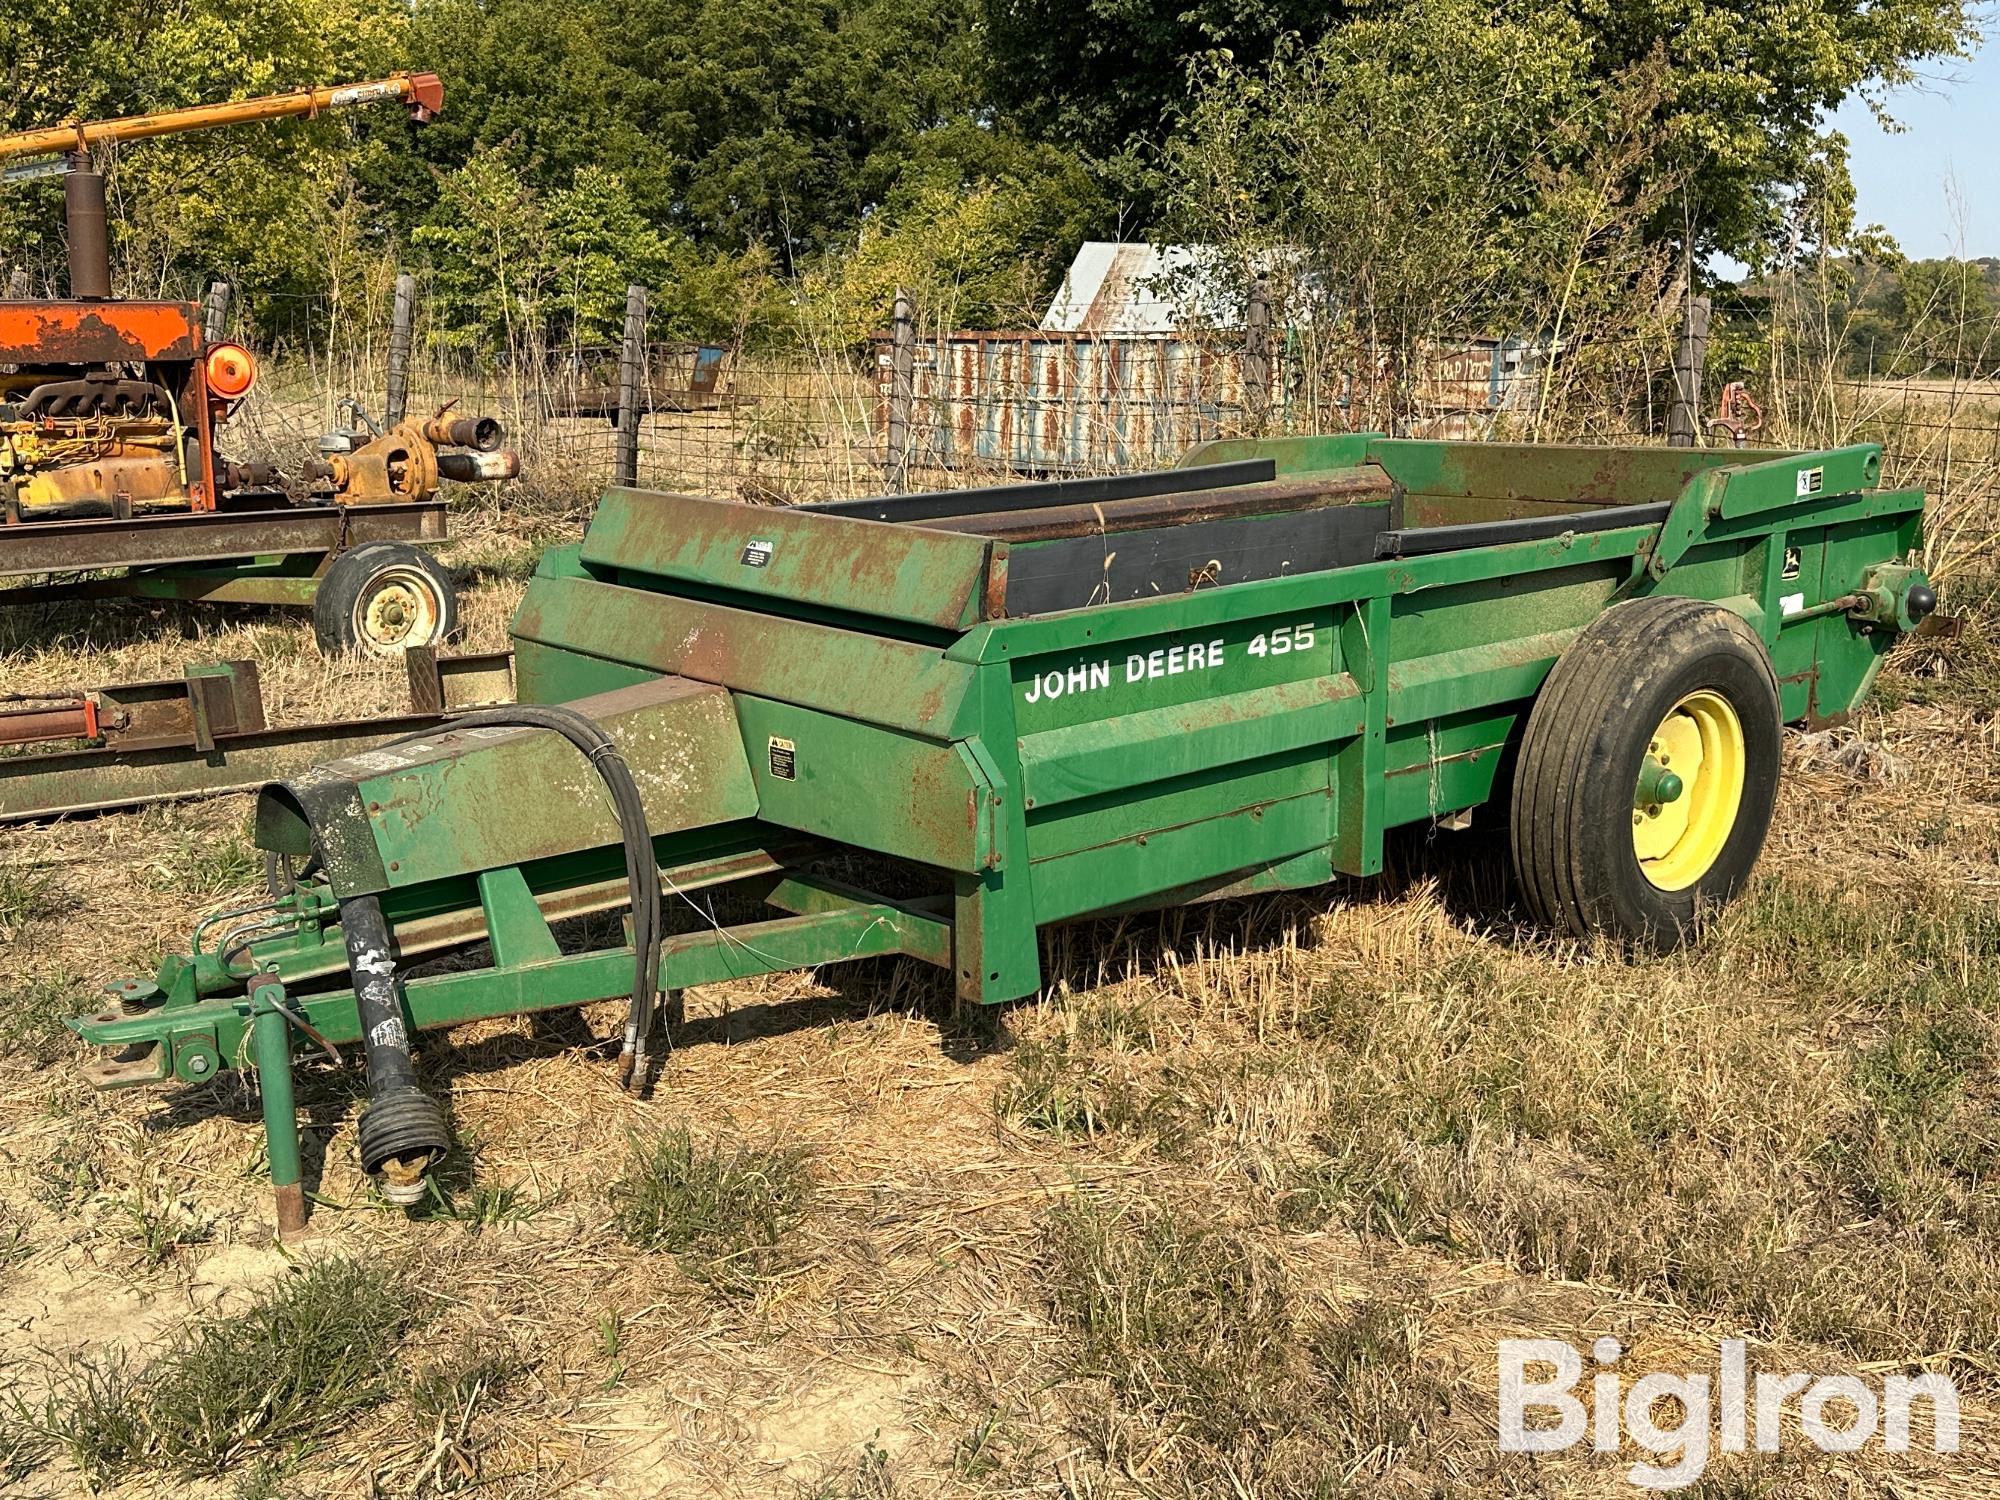
[[[1594,204],[1614,226],[1596,236],[1756,264],[1858,244],[1824,110],[1968,46],[1970,6],[0,0],[0,128],[440,72],[422,132],[368,108],[104,152],[120,284],[226,276],[278,332],[376,306],[398,262],[452,288],[452,336],[484,348],[520,326],[598,338],[622,280],[660,278],[662,316],[714,330],[742,316],[728,298],[766,306],[746,290],[766,270],[838,284],[848,322],[886,316],[894,278],[964,318],[1022,316],[1082,238],[1242,244],[1246,206],[1276,234],[1286,194],[1294,220],[1338,220],[1390,266],[1392,240],[1286,174],[1360,170],[1324,162],[1306,118],[1364,138],[1386,122],[1378,144],[1408,152],[1374,150],[1390,198],[1498,216],[1510,240],[1444,244],[1452,264],[1482,256],[1464,284],[1490,292],[1514,256],[1566,264]],[[1226,176],[1248,198],[1210,192]],[[0,188],[0,262],[44,290],[62,286],[60,196]],[[1592,274],[1632,274],[1600,248]]]

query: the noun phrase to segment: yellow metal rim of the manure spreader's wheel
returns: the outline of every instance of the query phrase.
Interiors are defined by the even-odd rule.
[[[1680,778],[1672,802],[1636,802],[1632,852],[1660,890],[1686,890],[1722,856],[1744,800],[1744,726],[1718,692],[1690,692],[1646,746]]]

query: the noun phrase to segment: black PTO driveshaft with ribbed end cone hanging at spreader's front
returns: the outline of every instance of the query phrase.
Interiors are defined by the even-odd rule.
[[[396,974],[382,902],[374,896],[344,898],[340,930],[348,942],[354,1008],[368,1054],[362,1170],[378,1176],[384,1198],[408,1208],[424,1200],[426,1176],[450,1146],[444,1110],[416,1084],[410,1030],[402,1022],[402,976]]]

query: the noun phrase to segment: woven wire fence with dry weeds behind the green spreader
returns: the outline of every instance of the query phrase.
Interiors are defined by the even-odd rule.
[[[382,420],[388,308],[366,318],[288,308],[284,338],[236,316],[262,380],[224,442],[288,468],[320,434]],[[1160,468],[1216,438],[1392,432],[1516,442],[1664,442],[1672,330],[1544,346],[1470,338],[1404,360],[1358,358],[1310,332],[1240,328],[1170,338],[908,324],[816,346],[752,332],[730,342],[646,338],[468,352],[416,298],[408,412],[498,416],[528,496],[588,504],[618,478],[620,386],[630,374],[634,480],[762,504],[1026,476]],[[1752,344],[1748,446],[1880,442],[1886,474],[1942,498],[1966,538],[2000,530],[2000,380],[1852,378]],[[622,368],[624,366],[624,368]],[[1696,440],[1730,444],[1710,424]]]

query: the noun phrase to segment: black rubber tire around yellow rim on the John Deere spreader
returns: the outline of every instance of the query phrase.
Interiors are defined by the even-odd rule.
[[[1662,890],[1632,848],[1632,788],[1654,728],[1708,690],[1744,734],[1744,792],[1714,864]],[[1528,714],[1514,770],[1514,876],[1534,920],[1670,952],[1750,876],[1778,800],[1778,678],[1756,632],[1692,598],[1616,604],[1570,644]]]

